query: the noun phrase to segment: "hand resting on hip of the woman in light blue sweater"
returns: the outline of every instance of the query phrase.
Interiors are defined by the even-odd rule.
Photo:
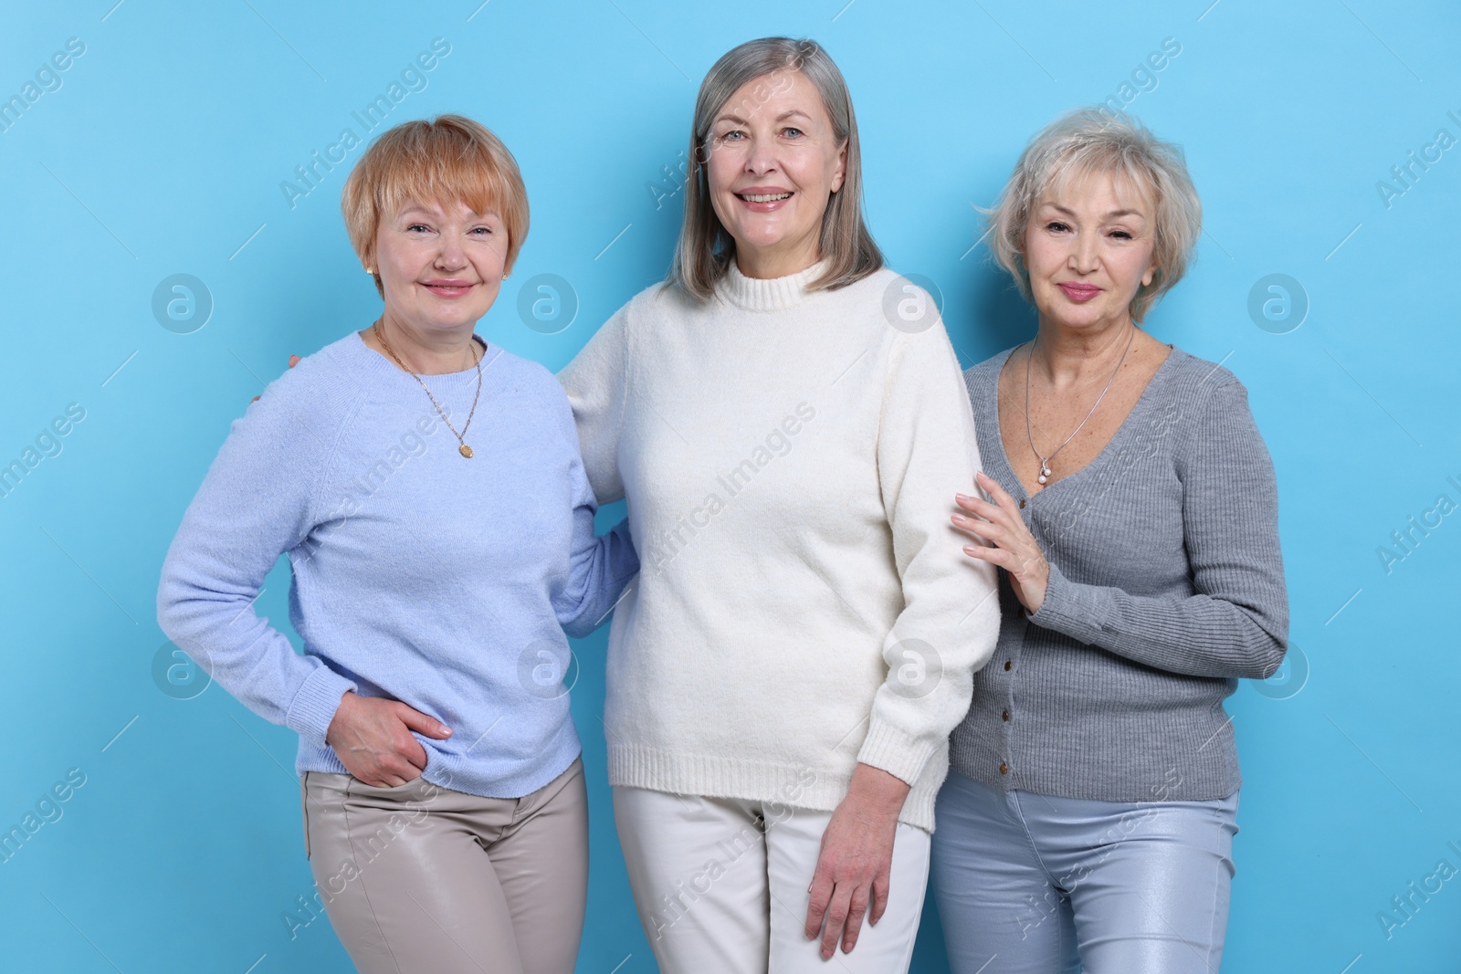
[[[324,743],[365,784],[394,789],[419,778],[427,768],[427,749],[411,736],[412,730],[437,740],[451,736],[451,729],[440,720],[397,699],[348,691],[340,697]]]

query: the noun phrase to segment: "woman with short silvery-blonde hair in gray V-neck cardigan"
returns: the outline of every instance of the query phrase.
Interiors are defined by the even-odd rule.
[[[1084,110],[1031,140],[991,223],[1039,329],[964,374],[986,496],[954,521],[1001,568],[1002,625],[938,799],[950,961],[1216,971],[1240,784],[1223,699],[1278,669],[1289,606],[1242,383],[1140,327],[1186,270],[1197,191],[1176,146]]]

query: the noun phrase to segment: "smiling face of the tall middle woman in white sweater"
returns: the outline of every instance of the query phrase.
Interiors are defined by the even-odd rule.
[[[801,72],[752,79],[712,124],[710,204],[749,277],[782,277],[821,257],[821,222],[842,188],[847,143]]]

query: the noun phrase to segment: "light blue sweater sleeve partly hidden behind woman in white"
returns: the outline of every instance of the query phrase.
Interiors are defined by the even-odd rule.
[[[564,418],[564,435],[577,453],[579,441],[570,416]],[[579,638],[599,628],[618,605],[625,584],[638,572],[638,555],[630,539],[628,518],[615,524],[609,533],[595,536],[593,515],[599,505],[583,463],[577,459],[570,476],[574,495],[573,551],[568,584],[554,596],[554,612],[564,632]]]

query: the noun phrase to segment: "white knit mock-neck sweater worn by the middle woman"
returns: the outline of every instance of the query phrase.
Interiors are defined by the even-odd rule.
[[[609,781],[831,810],[861,761],[932,829],[999,631],[950,526],[973,416],[926,295],[890,270],[806,291],[818,272],[732,263],[704,305],[650,288],[560,375],[643,564],[609,634]]]

